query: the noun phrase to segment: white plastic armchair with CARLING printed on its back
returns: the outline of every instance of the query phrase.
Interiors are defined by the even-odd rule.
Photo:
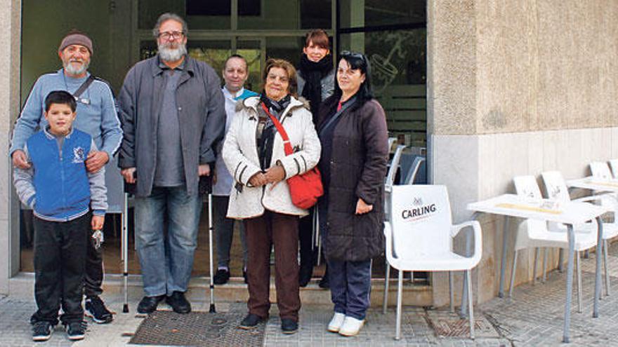
[[[401,335],[403,271],[466,271],[468,278],[468,317],[470,337],[474,339],[471,269],[481,258],[482,234],[477,221],[452,225],[451,206],[446,186],[393,186],[393,213],[384,224],[386,259],[399,270],[397,287],[397,326],[395,339]],[[453,252],[453,238],[470,226],[474,233],[474,253],[463,257]],[[452,291],[452,287],[449,287]]]

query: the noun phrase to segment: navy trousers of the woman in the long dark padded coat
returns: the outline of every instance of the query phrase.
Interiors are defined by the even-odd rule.
[[[372,288],[372,261],[327,259],[334,311],[364,320]]]

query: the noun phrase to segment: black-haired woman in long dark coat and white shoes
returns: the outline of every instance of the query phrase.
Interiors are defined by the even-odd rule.
[[[329,332],[360,332],[369,308],[372,258],[384,249],[386,116],[372,97],[370,67],[360,53],[341,53],[334,95],[320,109],[318,135],[324,196],[320,234],[329,266],[334,315]]]

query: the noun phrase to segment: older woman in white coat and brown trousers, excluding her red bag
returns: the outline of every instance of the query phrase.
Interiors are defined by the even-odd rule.
[[[223,144],[223,161],[235,179],[228,217],[244,219],[248,246],[249,314],[240,323],[253,329],[268,319],[270,250],[275,245],[277,306],[284,334],[298,330],[298,219],[308,214],[291,200],[286,180],[312,169],[320,160],[320,140],[308,106],[296,99],[296,70],[285,60],[270,59],[263,73],[261,97],[237,105]],[[282,124],[294,148],[284,143],[270,113]]]

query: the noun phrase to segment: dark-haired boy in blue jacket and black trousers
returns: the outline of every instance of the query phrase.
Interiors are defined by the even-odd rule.
[[[45,341],[60,321],[69,339],[84,339],[81,306],[86,247],[91,230],[103,228],[107,209],[105,170],[86,170],[96,151],[92,137],[72,128],[77,116],[74,97],[63,90],[45,99],[48,125],[24,147],[29,169],[15,168],[13,181],[22,203],[34,210],[34,298],[32,339]]]

